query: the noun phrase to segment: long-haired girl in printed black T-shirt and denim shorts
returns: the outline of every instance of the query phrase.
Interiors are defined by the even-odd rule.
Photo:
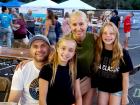
[[[111,22],[105,23],[97,39],[95,54],[98,105],[127,104],[129,71],[132,69],[130,56],[119,43],[117,27]]]

